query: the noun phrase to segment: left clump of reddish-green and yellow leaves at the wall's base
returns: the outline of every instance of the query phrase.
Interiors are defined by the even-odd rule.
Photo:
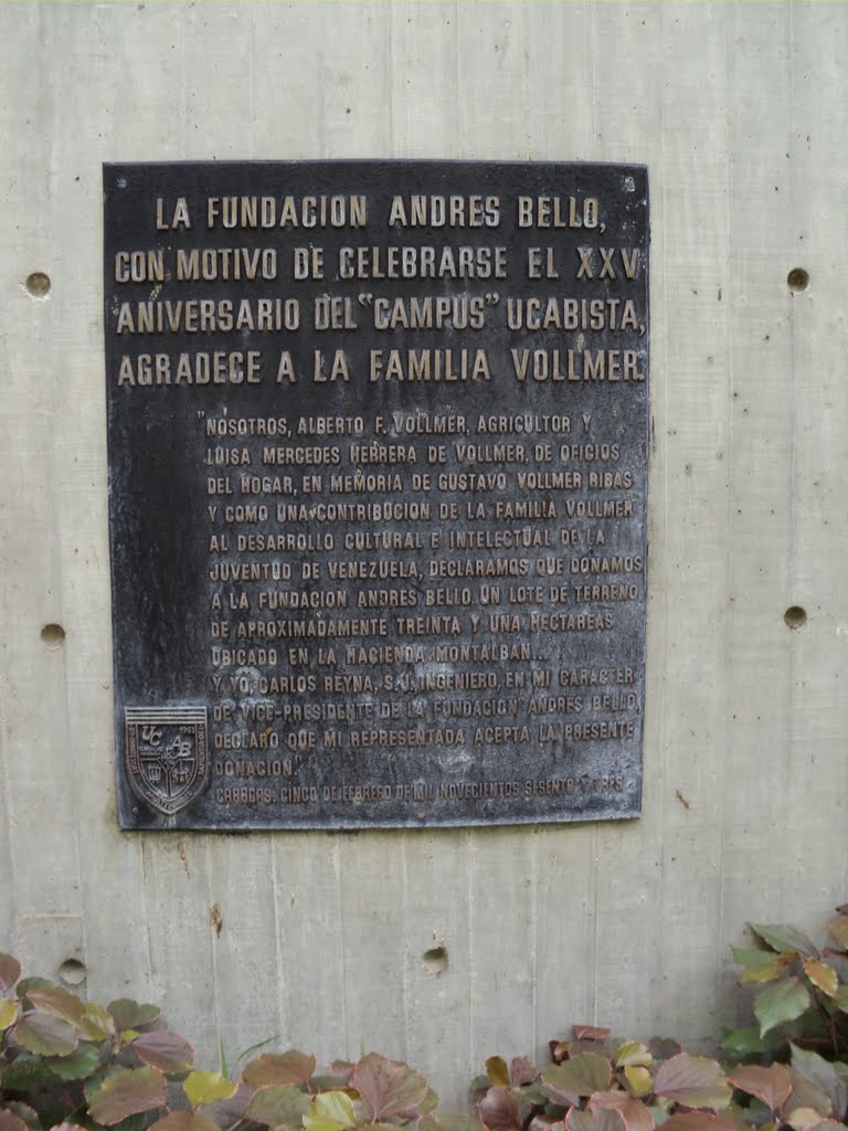
[[[156,1005],[84,1002],[21,981],[8,955],[0,995],[0,1131],[482,1131],[433,1114],[424,1077],[375,1053],[337,1061],[327,1077],[297,1050],[262,1053],[231,1080],[223,1055],[222,1071],[196,1069]]]

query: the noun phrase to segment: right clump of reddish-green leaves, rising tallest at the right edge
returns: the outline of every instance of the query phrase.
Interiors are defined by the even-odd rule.
[[[667,1041],[576,1026],[543,1071],[486,1061],[474,1095],[487,1131],[846,1131],[848,905],[821,951],[791,926],[752,924],[734,947],[758,1024],[725,1033],[725,1065]]]

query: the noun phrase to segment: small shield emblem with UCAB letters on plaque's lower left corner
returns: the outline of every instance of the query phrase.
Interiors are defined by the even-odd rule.
[[[142,801],[178,813],[209,783],[206,707],[127,707],[127,775]]]

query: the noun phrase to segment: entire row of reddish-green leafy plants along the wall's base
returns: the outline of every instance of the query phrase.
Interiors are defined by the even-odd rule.
[[[377,1053],[325,1074],[296,1050],[239,1080],[197,1070],[157,1007],[85,1002],[0,955],[0,1131],[848,1131],[848,905],[821,951],[793,927],[751,930],[734,956],[759,1024],[725,1034],[724,1065],[576,1027],[542,1071],[491,1056],[478,1119],[438,1113],[421,1073]]]

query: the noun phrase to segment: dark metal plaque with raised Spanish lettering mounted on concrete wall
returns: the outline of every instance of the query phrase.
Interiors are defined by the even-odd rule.
[[[135,829],[634,817],[637,165],[107,165]]]

